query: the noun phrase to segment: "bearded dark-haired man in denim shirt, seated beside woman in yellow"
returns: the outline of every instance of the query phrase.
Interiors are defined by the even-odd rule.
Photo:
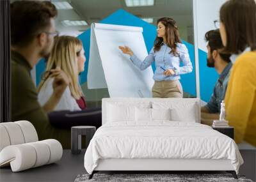
[[[205,33],[207,44],[207,66],[215,68],[220,75],[217,80],[210,101],[201,108],[201,123],[212,125],[214,119],[219,119],[221,101],[225,98],[228,79],[230,75],[230,54],[220,52],[223,49],[219,29],[211,30]]]

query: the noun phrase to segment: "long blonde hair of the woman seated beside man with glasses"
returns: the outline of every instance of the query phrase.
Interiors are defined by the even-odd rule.
[[[38,92],[49,80],[51,70],[57,66],[70,78],[69,89],[72,96],[78,100],[83,96],[78,79],[77,56],[79,56],[83,44],[81,40],[73,36],[57,36],[54,38],[54,45],[49,59],[47,60],[46,70],[42,75],[42,80],[38,86]]]

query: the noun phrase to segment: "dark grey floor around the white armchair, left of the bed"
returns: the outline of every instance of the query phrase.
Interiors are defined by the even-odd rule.
[[[70,150],[64,150],[57,163],[21,172],[12,172],[10,167],[4,167],[0,169],[0,181],[74,181],[78,174],[86,173],[84,153],[72,155]]]

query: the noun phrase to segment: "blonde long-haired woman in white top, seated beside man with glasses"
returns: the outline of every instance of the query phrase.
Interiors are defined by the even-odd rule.
[[[60,36],[54,40],[54,47],[47,61],[46,71],[38,86],[38,101],[45,105],[53,92],[53,77],[58,73],[51,70],[62,70],[69,79],[70,84],[61,96],[60,102],[54,110],[82,110],[86,108],[84,95],[79,85],[79,73],[84,71],[84,49],[81,41],[72,36]],[[58,84],[58,83],[56,83]],[[49,109],[45,108],[47,112]]]

